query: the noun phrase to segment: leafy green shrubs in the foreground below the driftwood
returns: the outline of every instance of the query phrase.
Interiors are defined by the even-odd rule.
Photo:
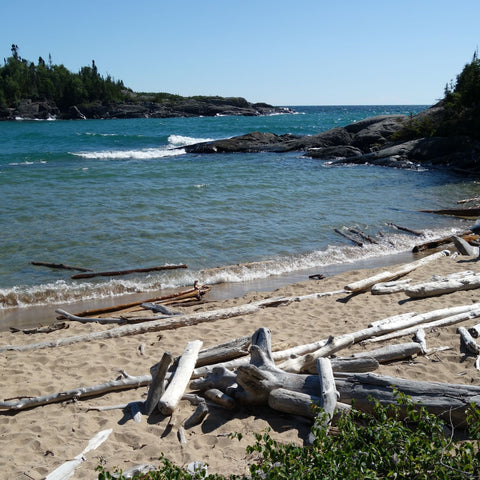
[[[259,461],[250,466],[249,476],[190,475],[162,457],[161,467],[142,476],[161,479],[251,479],[251,480],[357,480],[411,479],[460,480],[480,476],[480,410],[472,408],[467,420],[468,441],[455,441],[445,423],[398,395],[399,405],[374,405],[373,415],[353,410],[342,416],[338,433],[329,434],[318,422],[313,427],[314,443],[309,447],[282,444],[269,431],[255,435],[247,452]],[[241,435],[232,435],[241,439]],[[99,467],[100,480],[112,477]],[[117,472],[118,473],[118,472]],[[125,478],[119,472],[115,477]]]

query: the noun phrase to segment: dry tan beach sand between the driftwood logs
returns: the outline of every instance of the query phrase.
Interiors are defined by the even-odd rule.
[[[306,280],[270,293],[249,293],[241,298],[207,302],[183,311],[205,311],[241,305],[271,296],[305,295],[342,289],[387,268],[354,270],[323,280]],[[391,270],[392,267],[388,267]],[[432,275],[462,270],[480,271],[480,263],[469,257],[443,257],[421,267],[406,278],[413,282],[426,281]],[[214,287],[215,288],[215,287]],[[208,300],[208,297],[207,297]],[[191,340],[202,340],[210,347],[228,340],[252,335],[259,327],[272,333],[273,348],[310,343],[360,330],[374,320],[394,314],[415,311],[423,313],[456,305],[469,305],[479,300],[479,291],[470,290],[421,300],[408,300],[404,293],[355,296],[337,294],[315,300],[303,300],[289,305],[262,309],[257,313],[231,319],[203,323],[177,330],[167,330],[117,339],[76,343],[65,347],[37,349],[25,352],[7,351],[0,354],[2,371],[1,398],[38,396],[81,386],[113,380],[120,370],[130,375],[145,375],[165,351],[180,355]],[[53,307],[52,307],[53,315]],[[472,326],[475,320],[459,324]],[[480,372],[475,369],[475,357],[461,349],[456,333],[458,325],[427,332],[427,346],[450,346],[451,350],[431,356],[417,356],[408,361],[383,365],[378,373],[398,377],[460,384],[480,384]],[[110,328],[97,324],[72,322],[68,329],[50,334],[25,335],[1,332],[1,346],[36,343],[76,334]],[[390,343],[410,341],[411,337]],[[370,345],[373,349],[382,344]],[[366,347],[355,345],[339,356],[346,356]],[[143,417],[140,423],[125,416],[122,410],[95,411],[96,406],[117,405],[145,400],[148,387],[108,393],[96,398],[65,401],[17,413],[0,412],[0,471],[4,478],[40,480],[62,463],[73,459],[99,431],[112,428],[109,438],[98,449],[85,455],[74,478],[96,478],[95,467],[104,461],[106,468],[123,470],[138,464],[159,464],[164,454],[178,465],[200,460],[208,464],[210,473],[247,472],[255,457],[245,447],[253,443],[253,432],[267,427],[281,441],[303,444],[310,431],[310,421],[262,408],[239,408],[227,411],[214,408],[205,421],[186,430],[186,445],[181,445],[176,430],[168,431],[168,418],[160,414]],[[187,418],[195,407],[182,401],[179,417]],[[228,434],[243,434],[241,441]]]

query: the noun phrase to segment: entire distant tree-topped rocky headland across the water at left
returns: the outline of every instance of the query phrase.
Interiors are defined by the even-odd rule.
[[[215,115],[291,113],[283,107],[250,103],[242,97],[139,93],[110,75],[103,77],[95,61],[78,73],[39,57],[21,58],[19,47],[0,67],[0,120],[168,118]]]

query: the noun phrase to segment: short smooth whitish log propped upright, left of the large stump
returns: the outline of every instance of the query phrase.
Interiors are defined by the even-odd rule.
[[[202,343],[201,340],[187,343],[185,351],[178,361],[173,378],[158,402],[158,409],[164,415],[171,415],[182,398],[195,368],[195,362],[197,361]]]

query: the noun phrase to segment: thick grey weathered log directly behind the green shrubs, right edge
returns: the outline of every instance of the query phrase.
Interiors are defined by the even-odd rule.
[[[356,409],[373,411],[374,399],[381,404],[396,404],[395,391],[398,391],[455,427],[465,425],[471,403],[480,406],[480,387],[473,385],[422,382],[374,373],[338,374],[335,385],[340,401],[354,401]]]

